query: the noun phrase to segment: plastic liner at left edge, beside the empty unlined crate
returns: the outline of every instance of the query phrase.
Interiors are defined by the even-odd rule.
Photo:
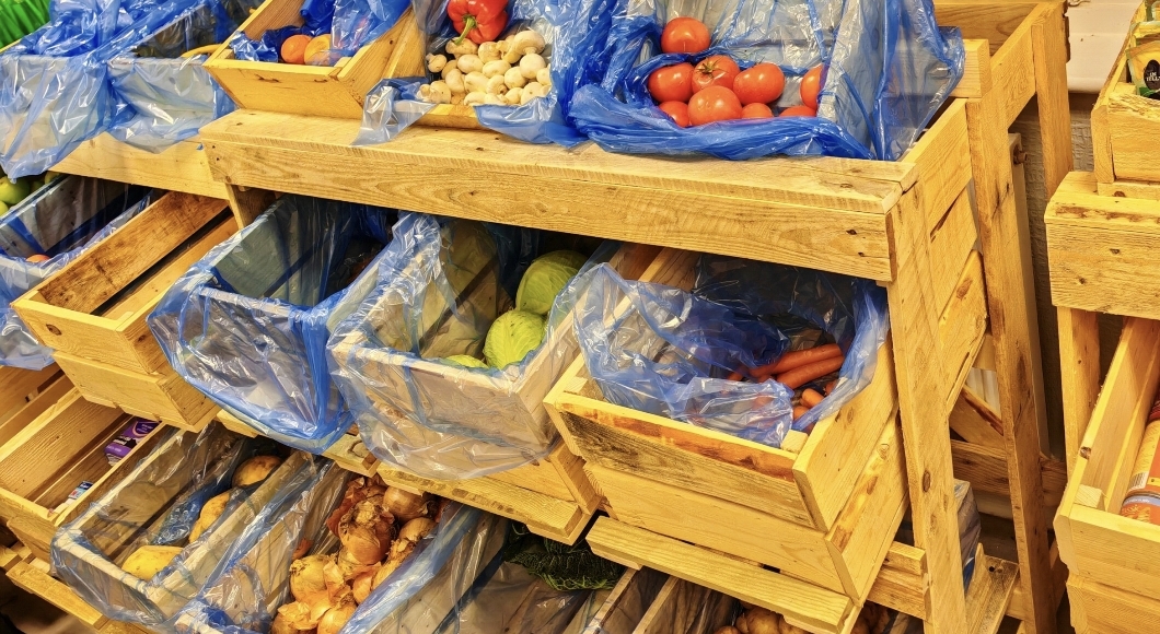
[[[148,189],[81,176],[58,177],[0,217],[0,365],[52,363],[12,303],[137,216]],[[28,257],[45,255],[44,262]]]

